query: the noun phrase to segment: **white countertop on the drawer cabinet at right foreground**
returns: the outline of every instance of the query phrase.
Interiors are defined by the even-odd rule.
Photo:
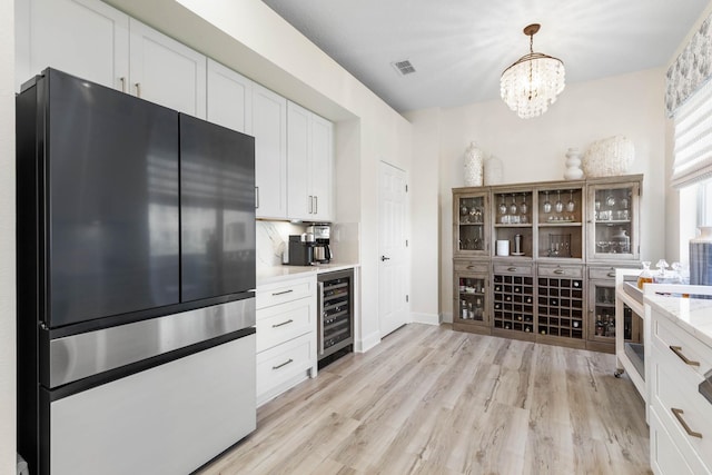
[[[647,295],[645,303],[685,331],[712,346],[712,300]]]

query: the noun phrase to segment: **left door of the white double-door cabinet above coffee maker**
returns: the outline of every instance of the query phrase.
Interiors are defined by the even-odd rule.
[[[312,112],[287,106],[287,201],[289,219],[313,219],[314,196],[309,184],[309,132]]]

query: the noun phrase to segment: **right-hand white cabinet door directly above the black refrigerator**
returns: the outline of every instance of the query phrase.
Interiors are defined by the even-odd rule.
[[[130,19],[130,93],[206,118],[206,57]]]

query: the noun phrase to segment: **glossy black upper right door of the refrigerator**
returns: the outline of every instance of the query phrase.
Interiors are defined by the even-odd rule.
[[[180,115],[181,299],[255,288],[255,139]]]

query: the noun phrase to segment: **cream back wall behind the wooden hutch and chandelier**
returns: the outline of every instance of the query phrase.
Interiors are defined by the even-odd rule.
[[[441,178],[441,308],[452,320],[452,194],[462,187],[464,152],[473,140],[503,161],[503,182],[563,179],[566,149],[625,135],[635,145],[631,174],[644,174],[641,212],[641,255],[657,260],[664,255],[665,117],[662,69],[568,85],[542,117],[523,120],[501,100],[443,109],[439,132],[431,127],[428,141],[439,140]],[[414,130],[428,133],[416,115]],[[439,133],[439,139],[437,135]],[[418,138],[418,140],[426,140]]]

